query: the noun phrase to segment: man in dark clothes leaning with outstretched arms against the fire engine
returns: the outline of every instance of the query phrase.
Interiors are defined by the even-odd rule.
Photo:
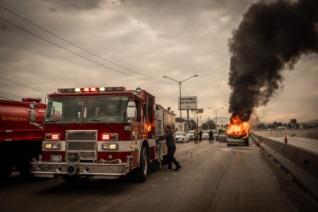
[[[169,126],[166,126],[164,128],[164,132],[166,133],[165,135],[156,136],[159,138],[156,141],[166,139],[166,145],[168,147],[168,159],[169,159],[168,169],[172,170],[172,163],[174,163],[176,165],[175,171],[178,171],[181,168],[181,166],[180,166],[179,162],[174,157],[174,154],[176,152],[175,137],[173,136],[173,133],[170,130]]]

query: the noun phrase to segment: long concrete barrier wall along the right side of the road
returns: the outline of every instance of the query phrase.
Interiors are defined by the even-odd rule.
[[[251,134],[266,150],[316,201],[318,201],[318,154],[292,144]]]

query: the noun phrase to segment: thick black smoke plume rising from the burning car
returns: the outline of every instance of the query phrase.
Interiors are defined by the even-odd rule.
[[[281,87],[282,71],[318,51],[318,0],[258,1],[232,31],[229,72],[231,120],[248,121]]]

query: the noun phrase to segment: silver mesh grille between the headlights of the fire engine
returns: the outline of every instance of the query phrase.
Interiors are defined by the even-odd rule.
[[[66,152],[79,152],[81,160],[97,159],[97,131],[66,133]]]

